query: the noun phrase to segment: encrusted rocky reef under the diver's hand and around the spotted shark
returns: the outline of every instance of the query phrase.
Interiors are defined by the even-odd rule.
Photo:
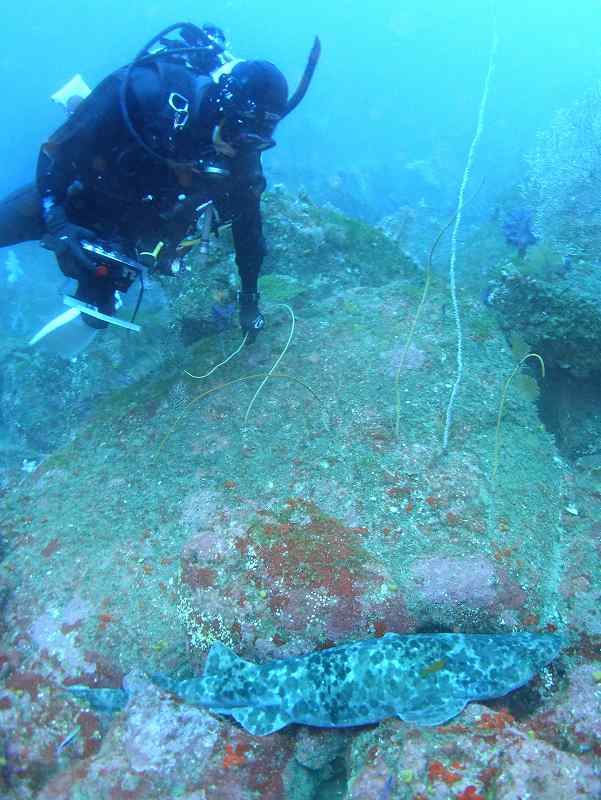
[[[5,358],[18,425],[2,490],[0,793],[595,796],[601,492],[558,450],[530,384],[514,382],[500,413],[523,354],[501,321],[517,329],[531,284],[503,278],[497,312],[462,294],[465,373],[443,452],[444,282],[413,330],[423,265],[384,231],[283,190],[265,212],[267,327],[210,376],[188,373],[241,340],[212,310],[231,301],[226,238],[205,271],[162,279],[143,335],[111,332],[75,364],[28,356],[20,377]],[[387,632],[517,630],[561,631],[562,657],[429,729],[252,737],[146,677],[198,674],[215,641],[260,662]],[[97,710],[75,684],[126,686],[129,701]]]

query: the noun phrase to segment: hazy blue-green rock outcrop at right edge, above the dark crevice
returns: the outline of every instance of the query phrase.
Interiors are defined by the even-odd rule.
[[[519,267],[502,271],[488,298],[508,340],[543,358],[541,418],[573,462],[599,453],[601,275],[596,264],[559,267],[554,259],[548,248],[533,248]]]

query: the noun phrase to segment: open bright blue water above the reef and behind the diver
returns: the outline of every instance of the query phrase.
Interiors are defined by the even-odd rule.
[[[487,195],[522,172],[521,156],[553,112],[599,77],[599,5],[509,0],[499,4],[499,53],[479,169]],[[177,19],[223,26],[232,50],[276,62],[295,86],[312,38],[323,56],[302,107],[266,157],[279,176],[336,174],[364,163],[386,171],[405,202],[419,199],[403,170],[416,159],[444,162],[444,186],[428,199],[452,206],[482,90],[492,9],[448,3],[282,3],[227,0],[206,7],[132,0],[8,3],[2,14],[3,98],[0,192],[27,180],[41,141],[62,122],[49,96],[74,73],[94,85]],[[453,180],[454,179],[454,180]],[[387,209],[384,209],[387,210]]]

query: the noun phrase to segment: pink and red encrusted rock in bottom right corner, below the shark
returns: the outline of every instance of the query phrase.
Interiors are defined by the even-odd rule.
[[[551,743],[552,731],[478,705],[434,731],[389,720],[353,741],[345,800],[379,800],[387,792],[400,800],[595,797],[601,780],[594,764]]]

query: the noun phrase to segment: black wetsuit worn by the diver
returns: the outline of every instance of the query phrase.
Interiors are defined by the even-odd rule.
[[[194,222],[195,209],[213,200],[221,220],[232,222],[242,289],[256,291],[265,254],[260,155],[253,151],[219,157],[211,138],[218,122],[211,106],[212,80],[181,63],[160,63],[135,67],[127,94],[131,122],[146,145],[162,156],[155,158],[125,123],[120,103],[124,76],[125,70],[119,70],[99,84],[42,146],[36,183],[0,203],[0,247],[40,239],[45,232],[41,201],[51,197],[71,222],[133,257],[163,241],[161,257],[167,261]],[[180,128],[169,103],[173,92],[190,105]],[[227,167],[229,177],[207,172],[215,158]],[[59,263],[80,281],[84,291],[79,296],[94,302],[97,282],[68,259]]]

